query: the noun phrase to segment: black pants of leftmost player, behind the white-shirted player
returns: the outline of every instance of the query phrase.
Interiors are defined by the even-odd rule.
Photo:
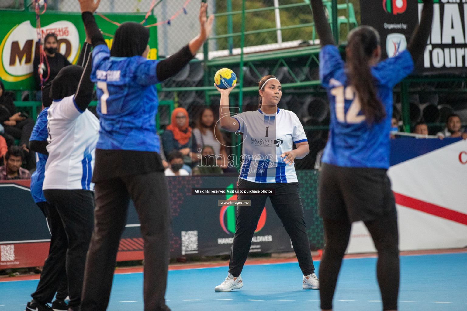
[[[42,304],[50,304],[55,292],[57,292],[55,297],[57,300],[65,300],[68,296],[68,279],[65,272],[68,241],[57,209],[47,202],[38,202],[37,206],[47,218],[51,238],[49,256],[45,260],[37,289],[31,294],[31,297]]]

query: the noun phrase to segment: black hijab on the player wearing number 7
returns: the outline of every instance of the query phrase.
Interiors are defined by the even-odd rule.
[[[149,42],[149,29],[141,24],[129,21],[123,23],[113,35],[110,56],[133,57],[141,56]]]

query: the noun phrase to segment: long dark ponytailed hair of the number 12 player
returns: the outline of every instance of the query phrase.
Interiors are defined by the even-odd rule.
[[[349,84],[355,88],[361,103],[361,111],[368,124],[381,122],[386,111],[376,94],[375,80],[371,75],[369,60],[380,44],[379,34],[369,26],[355,28],[348,35],[349,57],[347,70]]]

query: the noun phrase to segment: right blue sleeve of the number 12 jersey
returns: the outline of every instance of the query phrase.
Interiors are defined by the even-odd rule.
[[[372,69],[372,74],[378,81],[389,88],[393,88],[403,78],[410,75],[414,69],[412,55],[404,50],[399,55],[388,58]]]

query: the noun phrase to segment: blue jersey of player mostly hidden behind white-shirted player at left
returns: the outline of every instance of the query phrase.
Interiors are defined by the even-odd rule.
[[[31,140],[46,141],[47,140],[47,111],[49,107],[42,109],[41,113],[37,116],[34,128],[31,133]],[[44,182],[45,163],[48,156],[36,152],[35,162],[36,168],[31,175],[31,196],[35,203],[45,202],[44,192],[42,191],[42,183]]]

